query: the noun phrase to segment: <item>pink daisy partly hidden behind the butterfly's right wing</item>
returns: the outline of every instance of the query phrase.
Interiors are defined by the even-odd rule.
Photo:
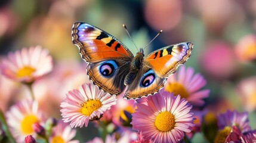
[[[209,89],[200,90],[206,85],[206,80],[201,74],[196,73],[194,76],[192,67],[186,69],[185,66],[180,66],[177,73],[168,77],[165,85],[165,91],[174,92],[174,95],[180,95],[192,105],[203,105],[203,98],[209,96]]]

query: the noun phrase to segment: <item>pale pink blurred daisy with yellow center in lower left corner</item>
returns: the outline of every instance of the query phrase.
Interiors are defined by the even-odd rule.
[[[17,102],[6,113],[7,124],[17,142],[23,142],[27,135],[35,135],[34,123],[44,122],[42,113],[38,111],[38,102],[23,100]]]

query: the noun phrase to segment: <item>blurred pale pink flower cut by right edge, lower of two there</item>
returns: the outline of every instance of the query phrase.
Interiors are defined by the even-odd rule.
[[[237,90],[240,94],[246,111],[256,109],[256,76],[247,77],[238,83]]]

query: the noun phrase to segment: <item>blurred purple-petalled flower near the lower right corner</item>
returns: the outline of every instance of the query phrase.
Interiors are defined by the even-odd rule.
[[[238,113],[236,110],[227,110],[226,113],[220,114],[218,116],[218,128],[223,129],[226,126],[236,126],[242,133],[251,130],[248,113]]]

